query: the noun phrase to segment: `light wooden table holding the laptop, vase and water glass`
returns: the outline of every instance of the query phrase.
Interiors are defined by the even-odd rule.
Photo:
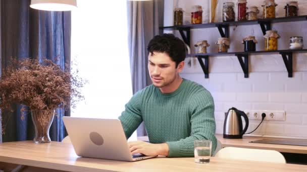
[[[22,171],[306,171],[305,165],[241,161],[212,157],[209,164],[193,158],[158,157],[136,162],[78,157],[70,143],[32,141],[0,144],[0,167],[8,163],[32,166]],[[40,168],[35,168],[40,167]],[[46,169],[42,169],[46,168]],[[30,169],[30,170],[29,170]],[[35,170],[36,169],[36,170]]]

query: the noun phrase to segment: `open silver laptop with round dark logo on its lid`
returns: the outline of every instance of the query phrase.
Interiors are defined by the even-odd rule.
[[[122,161],[155,157],[131,155],[118,119],[63,117],[63,121],[78,156]]]

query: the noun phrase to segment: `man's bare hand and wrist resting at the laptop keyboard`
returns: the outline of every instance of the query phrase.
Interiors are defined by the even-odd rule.
[[[167,156],[169,154],[169,145],[167,143],[152,144],[144,141],[130,141],[128,145],[132,155],[142,153],[146,156]]]

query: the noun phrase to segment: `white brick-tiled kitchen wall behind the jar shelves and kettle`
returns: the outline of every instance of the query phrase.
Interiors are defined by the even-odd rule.
[[[248,0],[247,2],[247,6],[261,7],[263,1]],[[275,2],[278,4],[277,17],[284,17],[283,8],[287,1],[276,0]],[[299,15],[307,15],[307,1],[299,0],[298,3]],[[202,5],[204,16],[207,13],[207,4],[208,2],[203,0],[175,0],[173,3],[174,7],[181,7],[186,12],[191,12],[193,5]],[[174,7],[165,8],[172,10]],[[189,14],[185,15],[188,23]],[[173,16],[165,16],[165,18],[173,18]],[[290,36],[303,36],[304,47],[307,48],[307,21],[273,24],[272,28],[281,36],[278,40],[279,49],[288,49]],[[252,30],[259,41],[257,50],[264,50],[264,38],[260,26],[251,25],[230,28],[229,52],[243,51],[242,38],[251,34]],[[175,34],[180,37],[177,31]],[[191,31],[191,45],[198,40],[208,40],[211,44],[208,51],[217,52],[214,43],[218,37],[220,34],[217,28],[195,29]],[[191,49],[195,52],[194,47]],[[186,63],[187,61],[188,59]],[[251,55],[249,78],[244,78],[236,56],[210,57],[209,79],[204,78],[198,61],[194,58],[192,61],[192,66],[188,68],[186,65],[182,76],[202,84],[212,93],[215,100],[217,133],[223,133],[224,112],[231,107],[236,107],[240,110],[286,111],[286,121],[265,121],[253,134],[307,137],[305,132],[307,131],[307,53],[294,54],[292,78],[288,77],[285,64],[278,53]],[[259,122],[250,121],[248,131],[257,127]]]

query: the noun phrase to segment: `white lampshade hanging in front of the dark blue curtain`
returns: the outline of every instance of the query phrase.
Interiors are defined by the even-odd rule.
[[[30,7],[45,11],[71,11],[77,7],[77,0],[31,0]]]

